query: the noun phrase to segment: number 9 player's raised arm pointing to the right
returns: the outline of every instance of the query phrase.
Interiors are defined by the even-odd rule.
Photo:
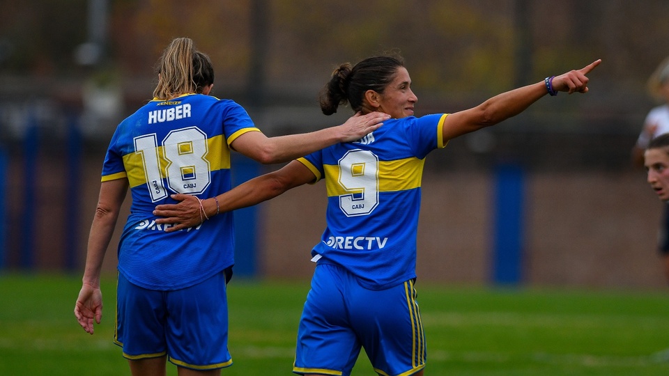
[[[587,93],[587,74],[596,68],[599,63],[601,63],[601,59],[586,65],[580,70],[571,70],[554,77],[551,82],[553,90],[569,94]],[[541,81],[537,84],[495,95],[472,109],[452,113],[444,120],[444,143],[462,134],[474,132],[516,116],[546,94],[548,94],[546,82]]]

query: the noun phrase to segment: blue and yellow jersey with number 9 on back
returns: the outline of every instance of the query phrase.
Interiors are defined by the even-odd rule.
[[[341,265],[374,290],[415,278],[423,166],[445,146],[446,116],[385,120],[359,141],[298,159],[328,191],[328,227],[312,250],[318,263]]]

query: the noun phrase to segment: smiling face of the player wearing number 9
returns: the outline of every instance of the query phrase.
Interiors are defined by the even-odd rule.
[[[411,79],[406,68],[398,67],[390,84],[383,89],[383,93],[376,93],[375,99],[376,111],[398,119],[413,116],[413,106],[418,98],[411,91]]]

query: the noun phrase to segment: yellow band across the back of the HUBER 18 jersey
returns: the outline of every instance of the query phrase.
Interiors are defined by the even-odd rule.
[[[209,162],[210,171],[230,169],[230,149],[224,143],[222,135],[207,139],[207,148],[208,152],[204,159]],[[160,164],[160,173],[164,178],[167,176],[167,165],[169,162],[165,159],[162,149],[162,146],[158,146],[155,152]],[[130,188],[146,184],[142,153],[131,152],[130,154],[123,155],[123,165],[125,166],[125,172],[103,176],[102,181],[114,180],[114,177],[116,179],[123,178],[127,174]]]

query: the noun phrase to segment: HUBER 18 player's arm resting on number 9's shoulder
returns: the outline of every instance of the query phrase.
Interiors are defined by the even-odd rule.
[[[261,132],[247,132],[232,142],[238,152],[262,164],[289,162],[298,157],[327,148],[335,143],[361,139],[390,118],[386,113],[373,112],[367,115],[356,113],[346,123],[310,133],[267,137]]]

